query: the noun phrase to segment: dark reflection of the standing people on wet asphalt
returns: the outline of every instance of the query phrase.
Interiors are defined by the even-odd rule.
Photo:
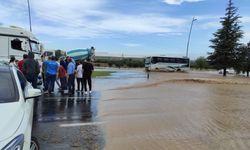
[[[94,121],[97,115],[98,93],[72,96],[51,95],[41,97],[35,104],[35,122]]]

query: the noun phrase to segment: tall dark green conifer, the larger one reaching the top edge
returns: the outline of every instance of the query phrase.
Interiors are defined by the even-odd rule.
[[[209,53],[208,60],[217,69],[223,69],[223,76],[226,76],[226,69],[234,66],[236,60],[236,48],[241,44],[240,38],[243,36],[241,26],[239,25],[241,18],[237,14],[237,8],[234,7],[232,0],[229,0],[226,8],[225,17],[221,18],[222,28],[215,32],[214,38],[210,40],[214,49],[213,53]]]

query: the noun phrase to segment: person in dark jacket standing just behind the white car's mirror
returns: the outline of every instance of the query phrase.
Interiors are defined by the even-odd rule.
[[[37,77],[39,73],[39,63],[34,59],[34,54],[29,52],[28,58],[23,63],[23,74],[34,88],[37,87]]]

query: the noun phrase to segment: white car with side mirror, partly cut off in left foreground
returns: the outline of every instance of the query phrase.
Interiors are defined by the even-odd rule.
[[[0,64],[1,150],[39,149],[31,132],[34,98],[40,95],[18,69]]]

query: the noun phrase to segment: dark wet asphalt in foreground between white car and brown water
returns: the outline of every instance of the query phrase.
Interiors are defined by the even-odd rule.
[[[33,125],[41,149],[103,149],[105,139],[96,117],[99,94],[41,97],[35,104]]]

